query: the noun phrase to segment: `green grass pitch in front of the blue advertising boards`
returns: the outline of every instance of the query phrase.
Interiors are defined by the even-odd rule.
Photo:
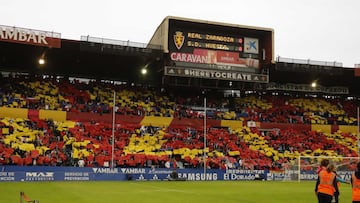
[[[40,203],[309,203],[314,181],[90,181],[0,182],[0,202],[20,202],[20,191]],[[351,202],[351,186],[340,187]]]

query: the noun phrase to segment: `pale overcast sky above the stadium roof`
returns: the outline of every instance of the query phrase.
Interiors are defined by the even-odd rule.
[[[9,0],[0,24],[147,43],[166,16],[273,28],[275,57],[360,63],[360,0]]]

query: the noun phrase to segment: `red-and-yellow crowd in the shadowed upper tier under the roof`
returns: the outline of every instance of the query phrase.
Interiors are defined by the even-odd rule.
[[[116,93],[115,108],[114,92]],[[224,97],[218,91],[156,89],[65,77],[8,74],[0,84],[0,106],[135,116],[207,117],[292,124],[356,125],[354,101],[253,92]]]

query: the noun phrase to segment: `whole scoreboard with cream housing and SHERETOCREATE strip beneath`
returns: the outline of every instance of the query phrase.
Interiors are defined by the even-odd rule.
[[[168,16],[150,44],[163,46],[167,78],[267,83],[261,73],[273,63],[273,36],[269,28]]]

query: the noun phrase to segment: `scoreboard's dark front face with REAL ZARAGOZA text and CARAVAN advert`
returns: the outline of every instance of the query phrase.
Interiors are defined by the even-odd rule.
[[[177,66],[258,73],[272,61],[269,30],[169,19],[168,35]]]

